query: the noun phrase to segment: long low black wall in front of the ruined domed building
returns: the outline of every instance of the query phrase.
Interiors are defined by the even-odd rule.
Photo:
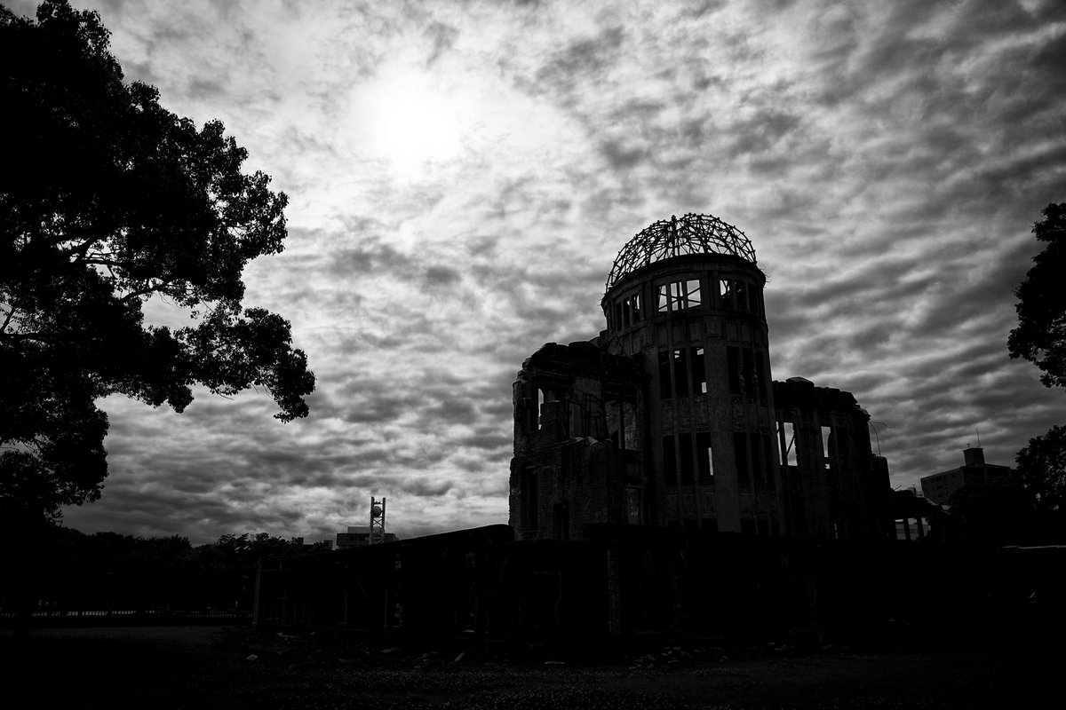
[[[1066,628],[1063,548],[488,526],[264,561],[255,620],[388,634],[572,643],[632,634],[793,643]]]

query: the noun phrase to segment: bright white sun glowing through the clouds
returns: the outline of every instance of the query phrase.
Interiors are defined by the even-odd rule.
[[[386,161],[395,177],[418,180],[458,155],[461,99],[435,85],[424,70],[386,65],[356,100],[367,121],[362,147]]]

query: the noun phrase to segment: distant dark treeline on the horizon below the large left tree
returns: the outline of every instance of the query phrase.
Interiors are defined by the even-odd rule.
[[[326,551],[266,533],[226,534],[193,546],[180,535],[139,538],[114,532],[85,534],[47,526],[31,554],[26,580],[34,611],[244,610],[255,598],[260,557],[289,558]],[[0,581],[0,601],[10,607],[14,580]]]

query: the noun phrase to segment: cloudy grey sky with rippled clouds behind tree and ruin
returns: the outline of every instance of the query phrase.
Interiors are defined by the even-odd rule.
[[[1060,0],[75,4],[289,195],[246,303],[319,387],[289,425],[257,393],[109,398],[72,527],[319,539],[371,495],[401,536],[505,523],[516,370],[596,335],[615,254],[688,212],[750,237],[774,377],[852,391],[893,485],[1066,423],[1005,344],[1066,201]]]

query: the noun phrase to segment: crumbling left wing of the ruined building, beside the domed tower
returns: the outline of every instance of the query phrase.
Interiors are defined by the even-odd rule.
[[[634,506],[640,518],[640,398],[639,366],[593,343],[549,343],[522,363],[510,499],[518,539],[580,538],[584,525],[631,519]]]

